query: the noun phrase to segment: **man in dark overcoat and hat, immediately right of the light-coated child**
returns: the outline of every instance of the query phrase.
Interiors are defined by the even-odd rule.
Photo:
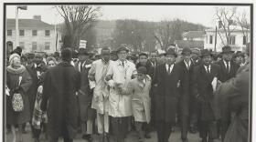
[[[156,87],[155,127],[158,142],[168,141],[176,124],[178,100],[187,96],[187,71],[175,64],[176,56],[174,49],[168,49],[165,63],[155,69],[153,85]]]

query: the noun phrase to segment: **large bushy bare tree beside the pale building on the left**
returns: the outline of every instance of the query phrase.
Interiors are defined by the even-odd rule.
[[[64,18],[65,35],[70,38],[70,47],[79,46],[80,37],[101,16],[101,7],[92,5],[58,5],[55,6]]]

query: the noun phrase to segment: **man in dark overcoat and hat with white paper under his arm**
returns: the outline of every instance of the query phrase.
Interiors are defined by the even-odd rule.
[[[202,142],[214,142],[217,138],[217,120],[220,114],[212,82],[216,78],[219,79],[219,66],[212,64],[213,56],[208,49],[201,51],[201,58],[202,64],[193,69],[192,93],[200,105],[199,135]]]

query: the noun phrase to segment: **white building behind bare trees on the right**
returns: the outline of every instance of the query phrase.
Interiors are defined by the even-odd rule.
[[[232,25],[230,26],[232,30],[229,37],[229,46],[231,46],[233,51],[244,51],[246,44],[250,42],[250,31],[243,35],[240,26]],[[246,32],[246,30],[245,30]],[[204,35],[204,48],[215,50],[215,35],[216,29],[211,28],[206,30],[206,35]],[[248,39],[248,41],[246,40]],[[223,28],[217,29],[217,41],[216,41],[216,51],[221,52],[222,47],[227,43],[226,34]]]

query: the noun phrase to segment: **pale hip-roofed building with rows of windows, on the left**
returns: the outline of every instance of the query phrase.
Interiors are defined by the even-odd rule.
[[[23,54],[33,52],[46,52],[48,54],[59,51],[61,33],[55,26],[41,21],[40,15],[33,19],[19,19],[19,46],[23,48]],[[5,27],[6,50],[16,48],[16,19],[6,19]]]

